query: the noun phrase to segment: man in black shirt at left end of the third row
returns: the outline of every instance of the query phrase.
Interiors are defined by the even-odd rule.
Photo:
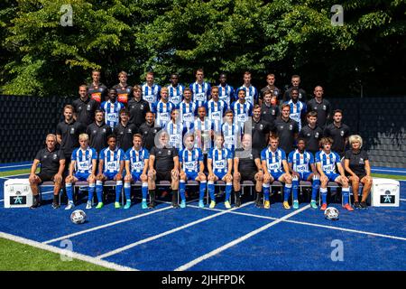
[[[86,85],[79,86],[78,93],[80,98],[72,102],[72,106],[75,107],[77,115],[76,120],[82,125],[88,126],[93,122],[99,104],[95,99],[88,97],[88,88]]]

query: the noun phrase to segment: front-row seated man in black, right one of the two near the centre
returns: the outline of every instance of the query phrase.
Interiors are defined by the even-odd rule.
[[[234,156],[234,191],[235,207],[241,206],[241,181],[255,183],[255,206],[261,208],[263,189],[263,167],[260,152],[252,148],[253,138],[249,134],[243,135],[243,147],[235,150]]]

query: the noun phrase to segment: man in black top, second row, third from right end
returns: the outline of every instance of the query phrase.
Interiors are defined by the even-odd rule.
[[[293,144],[299,135],[299,125],[296,121],[289,117],[291,114],[291,106],[283,104],[281,106],[281,117],[276,118],[275,127],[276,134],[279,136],[279,147],[289,155],[293,151]]]

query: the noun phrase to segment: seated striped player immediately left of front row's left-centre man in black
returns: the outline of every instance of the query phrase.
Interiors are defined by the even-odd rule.
[[[141,208],[147,209],[148,165],[150,153],[143,148],[143,135],[133,135],[133,147],[125,152],[125,209],[131,206],[131,182],[142,182]]]

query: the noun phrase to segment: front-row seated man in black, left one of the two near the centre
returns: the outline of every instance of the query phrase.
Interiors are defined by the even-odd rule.
[[[159,144],[152,147],[150,161],[148,163],[148,186],[150,189],[151,202],[149,208],[155,207],[156,182],[171,182],[172,207],[179,208],[179,156],[178,149],[169,147],[170,136],[168,132],[161,131],[158,136]],[[155,171],[156,170],[156,171]]]

